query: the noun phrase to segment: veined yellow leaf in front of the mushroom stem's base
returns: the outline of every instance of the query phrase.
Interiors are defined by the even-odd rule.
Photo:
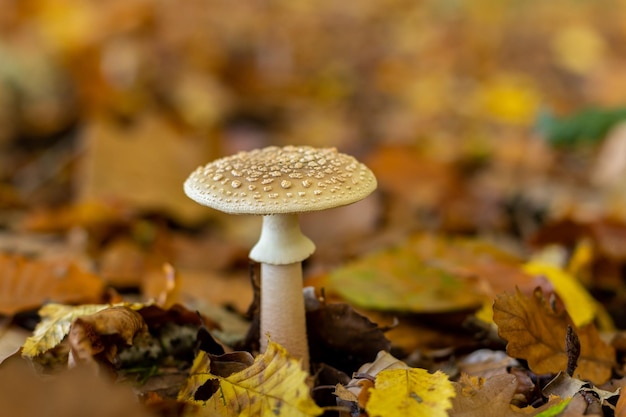
[[[251,366],[227,377],[213,375],[209,355],[201,352],[178,398],[203,405],[201,416],[318,416],[323,410],[309,395],[307,376],[298,360],[271,341]],[[196,399],[201,388],[213,391],[206,401]]]

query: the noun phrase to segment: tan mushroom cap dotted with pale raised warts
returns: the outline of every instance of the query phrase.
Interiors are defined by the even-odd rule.
[[[197,168],[185,181],[192,200],[231,214],[325,210],[365,198],[376,177],[335,148],[269,146]]]

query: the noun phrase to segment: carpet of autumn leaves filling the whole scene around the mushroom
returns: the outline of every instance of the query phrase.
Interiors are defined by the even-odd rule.
[[[3,410],[625,414],[622,2],[31,3],[0,24]],[[180,189],[294,137],[380,179],[305,224],[310,374],[251,343],[254,220]]]

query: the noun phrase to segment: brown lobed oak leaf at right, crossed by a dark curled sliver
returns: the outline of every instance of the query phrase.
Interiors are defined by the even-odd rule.
[[[494,303],[498,334],[507,341],[507,353],[528,361],[537,374],[558,373],[567,368],[565,337],[572,326],[580,339],[581,354],[574,375],[595,384],[607,381],[615,364],[615,350],[606,344],[593,325],[576,327],[567,311],[555,311],[540,289],[531,297],[498,296]]]

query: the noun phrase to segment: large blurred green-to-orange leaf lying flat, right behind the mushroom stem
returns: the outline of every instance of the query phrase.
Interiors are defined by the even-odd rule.
[[[329,290],[369,309],[458,311],[516,286],[532,290],[521,265],[487,241],[419,234],[332,271]]]

